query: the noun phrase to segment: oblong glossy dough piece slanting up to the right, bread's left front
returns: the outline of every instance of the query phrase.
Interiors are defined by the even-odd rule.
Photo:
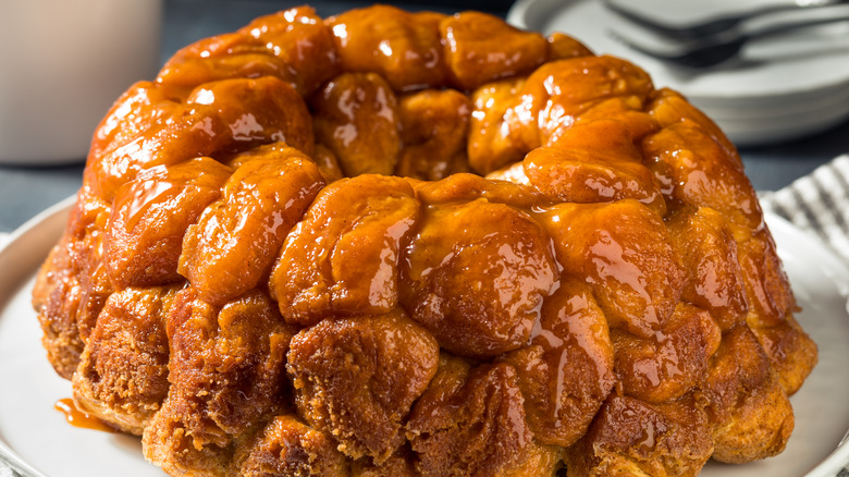
[[[177,270],[206,302],[224,304],[259,285],[275,250],[324,184],[303,152],[287,152],[243,162],[221,198],[187,230]]]

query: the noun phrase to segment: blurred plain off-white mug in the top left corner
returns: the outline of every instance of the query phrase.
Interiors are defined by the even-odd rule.
[[[115,99],[160,62],[162,0],[0,0],[0,163],[85,159]]]

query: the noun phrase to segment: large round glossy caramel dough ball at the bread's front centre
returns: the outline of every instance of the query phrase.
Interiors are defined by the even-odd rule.
[[[426,209],[423,222],[401,269],[413,319],[457,355],[527,344],[557,278],[540,225],[482,198]]]

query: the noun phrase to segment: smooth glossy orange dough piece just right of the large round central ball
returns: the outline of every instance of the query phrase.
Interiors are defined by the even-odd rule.
[[[559,204],[541,218],[559,264],[592,286],[611,327],[644,339],[663,329],[686,276],[659,215],[627,199]]]

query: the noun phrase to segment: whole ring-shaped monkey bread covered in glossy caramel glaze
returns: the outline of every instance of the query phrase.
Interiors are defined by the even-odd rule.
[[[723,133],[478,12],[181,50],[97,129],[34,305],[175,476],[692,476],[780,452],[816,362]]]

